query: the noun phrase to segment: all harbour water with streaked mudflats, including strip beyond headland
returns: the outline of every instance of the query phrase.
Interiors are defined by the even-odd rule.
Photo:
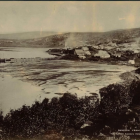
[[[0,54],[4,54],[5,58],[54,57],[46,51],[46,48],[4,48]],[[119,77],[121,73],[135,69],[131,66],[69,60],[47,60],[45,67],[43,64],[0,65],[0,109],[4,115],[10,109],[32,105],[44,98],[60,97],[66,92],[78,97],[99,93],[100,88],[122,81]],[[10,70],[4,72],[4,69]],[[36,80],[26,80],[27,77]],[[41,78],[45,79],[43,84],[40,84]]]

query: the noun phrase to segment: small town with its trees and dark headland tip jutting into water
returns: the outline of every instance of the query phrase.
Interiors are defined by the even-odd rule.
[[[126,44],[125,44],[126,45]],[[135,44],[139,46],[139,44]],[[108,43],[104,45],[67,46],[64,49],[50,49],[51,55],[62,56],[63,59],[80,59],[90,61],[119,62],[125,65],[140,65],[139,49],[129,50],[123,45]]]

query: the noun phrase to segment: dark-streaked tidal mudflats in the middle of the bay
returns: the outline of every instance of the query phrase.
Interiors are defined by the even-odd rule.
[[[56,60],[56,62],[57,61],[61,62],[62,60]],[[54,62],[55,61],[50,62],[50,68],[51,68],[51,65],[52,66],[54,65],[53,64]],[[62,61],[62,62],[67,63],[67,61]],[[75,61],[71,63],[77,65],[77,62]],[[90,62],[78,62],[78,64],[81,64],[81,66],[82,66],[82,63],[84,63],[84,65],[91,64]],[[98,94],[98,97],[100,98],[99,90],[101,88],[104,88],[113,83],[123,84],[125,82],[125,79],[123,79],[123,77],[120,76],[121,74],[124,74],[125,70],[121,71],[120,68],[118,69],[118,71],[116,71],[113,67],[112,68],[114,69],[114,71],[105,71],[105,70],[102,70],[102,68],[101,70],[99,68],[98,70],[95,70],[95,69],[93,70],[92,67],[88,69],[85,69],[85,68],[81,69],[81,66],[79,65],[79,69],[69,69],[69,67],[61,69],[60,68],[61,65],[60,67],[58,67],[59,66],[58,65],[56,66],[57,69],[53,69],[52,71],[50,68],[49,68],[50,70],[49,69],[44,70],[44,68],[37,69],[37,67],[36,69],[30,69],[30,67],[32,66],[34,67],[35,65],[40,65],[40,63],[32,64],[32,66],[31,64],[29,64],[29,68],[28,68],[28,64],[20,64],[20,65],[18,64],[17,67],[16,65],[17,64],[14,64],[14,65],[9,64],[7,66],[5,65],[4,71],[8,72],[8,74],[10,74],[12,77],[17,78],[18,80],[38,86],[43,92],[43,94],[41,94],[42,99],[46,97],[47,98],[51,97],[50,99],[52,99],[53,97],[62,97],[64,93],[68,93],[68,92],[74,95],[77,94],[78,98],[85,97],[85,96],[92,96],[93,93],[96,93]],[[44,65],[44,62],[42,62],[42,65]],[[97,64],[94,64],[94,65],[96,66]],[[106,64],[104,65],[98,64],[98,65],[104,67],[104,65]],[[114,75],[113,74],[114,72],[115,74],[117,74],[115,77],[116,78],[118,77],[118,79],[115,78],[116,82],[114,80],[111,82],[111,79],[113,79],[112,76]],[[49,73],[50,73],[50,76],[46,77],[46,75],[49,75]],[[95,80],[93,81],[93,83],[90,82],[90,80],[94,79],[94,77],[91,77],[91,76],[93,74],[94,74],[93,76],[98,75],[98,73],[99,75],[102,74],[101,78],[99,78],[99,82],[96,82]],[[113,75],[110,75],[110,73],[112,73]],[[85,74],[85,76],[80,78],[77,74],[79,74],[79,76],[81,76],[81,74]],[[89,76],[86,76],[86,74],[88,74]],[[110,80],[108,80],[109,83],[107,84],[107,82],[105,82],[105,85],[104,83],[100,85],[100,80],[102,80],[103,77],[106,76],[106,74],[110,75],[109,76]],[[72,79],[70,79],[70,76],[72,76],[71,77]],[[65,80],[63,79],[64,77],[65,77]],[[83,84],[84,83],[83,78],[85,79],[87,84]],[[99,83],[99,85],[97,83]]]

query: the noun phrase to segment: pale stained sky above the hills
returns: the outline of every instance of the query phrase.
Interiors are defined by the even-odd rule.
[[[0,34],[104,32],[140,27],[140,2],[0,1]]]

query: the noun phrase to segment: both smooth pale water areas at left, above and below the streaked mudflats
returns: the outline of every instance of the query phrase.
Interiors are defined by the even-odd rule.
[[[52,58],[53,55],[46,53],[48,48],[0,48],[0,58]],[[0,64],[4,67],[5,64]],[[35,100],[43,100],[46,96],[40,87],[30,83],[22,82],[17,78],[12,78],[8,73],[0,73],[0,109],[4,115],[10,109],[17,109],[23,104],[31,105]],[[52,95],[53,96],[53,95]],[[49,96],[49,98],[52,98]],[[48,97],[47,97],[48,98]]]

